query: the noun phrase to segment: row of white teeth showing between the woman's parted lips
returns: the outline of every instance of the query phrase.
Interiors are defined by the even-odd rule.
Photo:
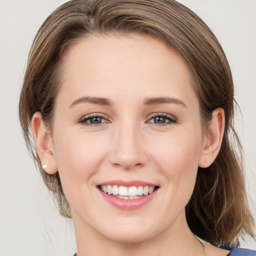
[[[118,186],[118,185],[98,185],[101,191],[106,194],[115,196],[120,199],[138,199],[151,194],[159,188],[159,186]]]

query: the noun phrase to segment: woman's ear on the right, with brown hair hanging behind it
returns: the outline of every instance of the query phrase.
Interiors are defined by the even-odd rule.
[[[207,126],[203,139],[202,151],[198,166],[208,167],[217,157],[220,150],[225,127],[225,114],[222,108],[216,108],[212,112],[212,118]]]

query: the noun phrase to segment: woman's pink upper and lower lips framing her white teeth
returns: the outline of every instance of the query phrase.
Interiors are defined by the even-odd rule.
[[[111,180],[111,181],[102,182],[97,186],[99,185],[118,185],[118,186],[123,185],[127,187],[139,186],[139,185],[156,186],[155,184],[144,182],[141,180],[130,180],[130,181]],[[98,188],[98,191],[107,202],[109,202],[111,205],[115,206],[116,208],[123,209],[123,210],[133,210],[133,209],[140,208],[143,205],[150,202],[153,199],[153,197],[157,194],[158,189],[155,189],[152,193],[142,196],[138,199],[128,199],[128,200],[117,198],[113,195],[106,194],[103,191],[101,191],[100,188]]]

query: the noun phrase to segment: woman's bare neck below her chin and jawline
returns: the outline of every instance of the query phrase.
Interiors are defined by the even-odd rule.
[[[161,233],[139,242],[115,241],[85,226],[73,215],[77,256],[154,256],[204,255],[202,244],[190,231],[185,215],[181,214]]]

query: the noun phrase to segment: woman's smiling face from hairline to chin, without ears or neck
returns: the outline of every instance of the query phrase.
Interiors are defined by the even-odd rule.
[[[145,35],[91,35],[64,73],[51,139],[75,227],[125,242],[180,228],[205,141],[185,62]]]

